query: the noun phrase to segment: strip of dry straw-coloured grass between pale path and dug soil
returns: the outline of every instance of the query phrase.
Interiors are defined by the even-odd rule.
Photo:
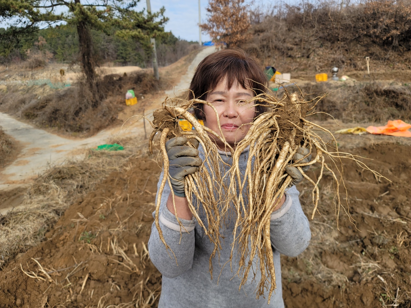
[[[138,141],[124,151],[90,150],[83,161],[53,166],[28,189],[22,209],[0,215],[0,267],[17,253],[37,245],[79,196],[120,167],[135,153]]]

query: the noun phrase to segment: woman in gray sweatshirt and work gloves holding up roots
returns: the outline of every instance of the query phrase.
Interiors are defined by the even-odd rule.
[[[227,48],[204,58],[196,69],[190,90],[195,97],[213,104],[219,115],[222,133],[227,143],[235,148],[236,143],[247,134],[247,124],[265,111],[261,106],[245,103],[256,94],[264,93],[265,84],[266,76],[252,57],[240,49]],[[200,104],[195,113],[204,121],[205,126],[215,132],[220,131],[215,112],[210,106]],[[236,256],[233,257],[232,271],[230,266],[223,266],[230,257],[234,220],[220,229],[224,240],[219,255],[213,258],[214,279],[211,279],[209,258],[214,244],[204,234],[203,228],[196,223],[184,193],[184,176],[198,170],[204,160],[204,154],[201,145],[196,150],[185,143],[185,137],[172,138],[166,143],[170,161],[169,173],[172,178],[171,188],[175,194],[175,209],[185,230],[181,230],[175,218],[171,188],[167,184],[163,191],[159,215],[164,239],[173,250],[177,262],[172,254],[169,255],[170,251],[166,251],[154,223],[148,242],[150,258],[163,274],[159,307],[284,307],[280,253],[296,256],[307,248],[311,238],[309,223],[302,212],[297,189],[295,186],[288,189],[270,217],[270,239],[277,289],[268,306],[268,299],[256,299],[255,296],[257,282],[260,280],[259,271],[255,277],[250,273],[247,283],[239,291],[241,280],[235,276],[238,269]],[[230,163],[231,157],[229,152],[224,151],[224,144],[216,138],[215,143],[220,149],[222,159]],[[246,168],[247,159],[248,149],[240,156],[242,171]],[[293,184],[302,179],[296,168],[289,168],[287,172],[293,177]],[[163,173],[160,175],[159,184],[162,177]],[[200,218],[203,220],[203,217]]]

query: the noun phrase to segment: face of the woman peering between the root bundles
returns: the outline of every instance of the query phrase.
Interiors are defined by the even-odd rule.
[[[215,111],[208,105],[203,105],[205,113],[204,125],[221,136],[220,128],[227,143],[235,148],[235,144],[244,139],[255,115],[254,102],[246,101],[254,97],[254,92],[245,89],[238,83],[233,83],[231,89],[226,87],[226,78],[207,95],[207,101],[212,103],[218,113],[220,126],[217,123]],[[210,135],[211,138],[213,136]],[[214,136],[216,140],[216,137]],[[224,144],[216,140],[217,146],[224,149]]]

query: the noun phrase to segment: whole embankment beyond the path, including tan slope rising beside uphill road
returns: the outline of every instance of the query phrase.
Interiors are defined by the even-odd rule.
[[[36,80],[48,76],[53,80],[52,86],[57,84],[62,76],[53,65],[29,72],[32,74],[21,68],[2,71],[0,78],[7,76],[5,80],[9,81],[7,85],[0,86],[0,112],[54,133],[90,136],[109,126],[121,125],[127,120],[121,116],[129,113],[127,109],[132,109],[134,115],[142,114],[144,107],[151,106],[164,90],[178,83],[200,50],[195,49],[168,67],[160,68],[160,80],[152,76],[152,69],[142,69],[128,75],[103,74],[97,81],[99,97],[94,97],[81,81],[68,87],[62,86],[61,89],[53,89],[47,83],[37,85],[26,82],[28,78]],[[26,81],[19,83],[19,80],[14,80],[16,76]],[[127,90],[134,90],[139,101],[131,108],[125,104]]]

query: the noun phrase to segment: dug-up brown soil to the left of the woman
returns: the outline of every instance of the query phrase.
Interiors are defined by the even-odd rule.
[[[161,275],[145,249],[160,171],[151,157],[131,159],[122,172],[113,172],[76,200],[42,244],[0,272],[1,307],[105,307],[132,301],[140,307],[157,305]],[[51,279],[23,274],[20,265],[41,276],[31,258]]]

